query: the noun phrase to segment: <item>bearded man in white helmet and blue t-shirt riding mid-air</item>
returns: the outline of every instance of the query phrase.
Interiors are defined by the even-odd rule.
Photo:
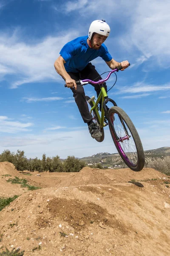
[[[121,63],[115,61],[108,52],[105,44],[103,44],[109,36],[110,30],[105,20],[94,20],[90,25],[88,36],[76,38],[65,44],[59,52],[59,58],[54,63],[57,73],[65,80],[67,87],[71,88],[79,112],[83,121],[88,124],[92,138],[101,137],[102,133],[92,121],[83,86],[77,87],[75,81],[79,79],[91,79],[94,81],[102,79],[94,65],[90,62],[97,57],[102,57],[112,70],[120,65],[122,66],[122,70],[128,67],[128,61],[122,61]],[[97,96],[99,96],[99,84],[92,85],[96,90]],[[106,83],[104,83],[104,87],[107,91]]]

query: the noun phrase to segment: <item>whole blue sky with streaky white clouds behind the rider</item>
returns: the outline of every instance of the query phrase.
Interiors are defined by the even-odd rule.
[[[131,64],[117,73],[109,96],[132,119],[144,150],[170,146],[169,10],[169,0],[0,0],[0,153],[66,158],[116,152],[108,128],[104,142],[91,138],[54,69],[62,46],[88,35],[96,19],[111,27],[105,44],[112,57]],[[93,64],[99,73],[109,71],[102,58]],[[95,95],[91,85],[84,89]]]

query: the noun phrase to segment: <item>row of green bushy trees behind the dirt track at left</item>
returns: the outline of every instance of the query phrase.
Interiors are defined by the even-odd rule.
[[[37,157],[27,159],[25,152],[20,150],[17,150],[17,153],[4,150],[0,154],[0,162],[5,161],[13,163],[18,171],[28,170],[31,172],[79,172],[86,165],[84,161],[74,156],[68,156],[67,159],[60,160],[58,155],[55,157],[46,157],[43,154],[42,160]]]

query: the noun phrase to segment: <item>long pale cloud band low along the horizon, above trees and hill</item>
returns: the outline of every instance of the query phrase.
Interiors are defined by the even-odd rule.
[[[159,120],[157,121],[157,129],[147,128],[139,129],[139,136],[141,137],[144,150],[151,148],[159,148],[169,146],[170,136],[169,124],[163,124],[162,129],[164,137],[160,134]],[[140,126],[140,124],[138,124]],[[144,125],[143,125],[144,127]],[[34,147],[32,146],[34,145]],[[43,146],[44,145],[44,146]],[[99,152],[116,153],[116,148],[111,140],[109,129],[105,128],[105,140],[102,143],[93,140],[88,132],[88,127],[84,126],[82,129],[65,129],[65,131],[56,130],[54,132],[48,131],[43,134],[26,134],[24,136],[2,137],[0,138],[0,151],[4,149],[16,151],[16,147],[26,152],[27,157],[42,157],[45,152],[47,156],[59,155],[61,158],[66,158],[68,155],[75,157],[85,157]]]

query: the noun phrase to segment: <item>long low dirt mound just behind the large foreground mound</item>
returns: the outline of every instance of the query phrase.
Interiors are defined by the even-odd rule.
[[[41,176],[37,176],[40,174]],[[37,182],[39,186],[45,187],[66,187],[79,186],[89,184],[107,184],[114,185],[116,183],[124,183],[131,180],[151,180],[163,178],[164,175],[151,168],[144,168],[141,172],[133,172],[130,169],[93,169],[84,167],[80,172],[33,172],[30,177],[32,182]]]

